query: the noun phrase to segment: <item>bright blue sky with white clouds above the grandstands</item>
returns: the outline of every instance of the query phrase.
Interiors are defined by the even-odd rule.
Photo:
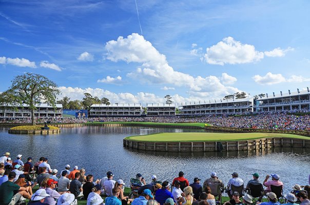
[[[0,0],[0,92],[26,72],[71,100],[213,101],[310,87],[310,1]]]

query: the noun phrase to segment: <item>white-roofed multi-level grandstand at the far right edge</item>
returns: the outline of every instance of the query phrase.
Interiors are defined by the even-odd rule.
[[[275,111],[309,111],[310,93],[309,91],[288,92],[273,94],[273,96],[261,97],[255,100],[255,112],[275,112]]]

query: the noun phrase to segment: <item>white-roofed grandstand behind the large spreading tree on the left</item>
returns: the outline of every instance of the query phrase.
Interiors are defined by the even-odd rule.
[[[55,108],[49,104],[42,103],[36,104],[34,110],[34,116],[38,118],[54,118],[63,117],[63,105],[56,104]],[[23,106],[2,106],[0,107],[0,118],[27,118],[31,117],[31,110],[29,105],[23,104]]]

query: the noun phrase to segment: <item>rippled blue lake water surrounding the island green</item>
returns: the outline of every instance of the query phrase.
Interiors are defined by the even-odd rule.
[[[310,174],[310,149],[276,149],[269,152],[222,152],[222,153],[165,153],[135,151],[123,148],[123,138],[158,132],[203,132],[203,130],[146,128],[146,127],[79,127],[62,128],[53,135],[8,134],[8,127],[0,127],[0,154],[10,152],[12,158],[23,154],[35,161],[41,156],[49,158],[52,169],[63,170],[68,163],[72,168],[85,168],[86,174],[102,178],[111,170],[114,179],[129,184],[130,177],[141,173],[148,181],[153,174],[160,180],[176,177],[179,171],[191,183],[200,177],[202,183],[212,171],[218,173],[225,185],[231,173],[238,172],[247,183],[251,173],[277,173],[285,191],[298,183],[308,185]]]

